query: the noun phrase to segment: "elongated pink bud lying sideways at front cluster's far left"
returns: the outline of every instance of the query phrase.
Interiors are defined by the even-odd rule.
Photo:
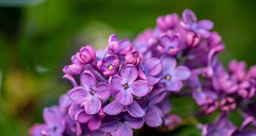
[[[62,71],[65,74],[70,74],[70,75],[77,75],[81,74],[83,72],[83,66],[81,64],[71,64],[71,65],[66,65]]]

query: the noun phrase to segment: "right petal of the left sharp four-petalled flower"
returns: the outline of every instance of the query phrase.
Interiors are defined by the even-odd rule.
[[[110,97],[110,90],[106,83],[99,83],[95,88],[95,96],[100,99],[108,99]]]

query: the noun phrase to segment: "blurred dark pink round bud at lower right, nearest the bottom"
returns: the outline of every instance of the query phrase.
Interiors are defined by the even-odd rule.
[[[235,100],[232,97],[226,97],[221,99],[219,106],[221,111],[231,112],[237,107],[237,103],[235,103]]]

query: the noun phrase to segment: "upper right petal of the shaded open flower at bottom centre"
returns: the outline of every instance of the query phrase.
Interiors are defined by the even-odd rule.
[[[144,118],[135,118],[132,116],[128,116],[125,118],[124,123],[133,129],[140,129],[144,125]]]

